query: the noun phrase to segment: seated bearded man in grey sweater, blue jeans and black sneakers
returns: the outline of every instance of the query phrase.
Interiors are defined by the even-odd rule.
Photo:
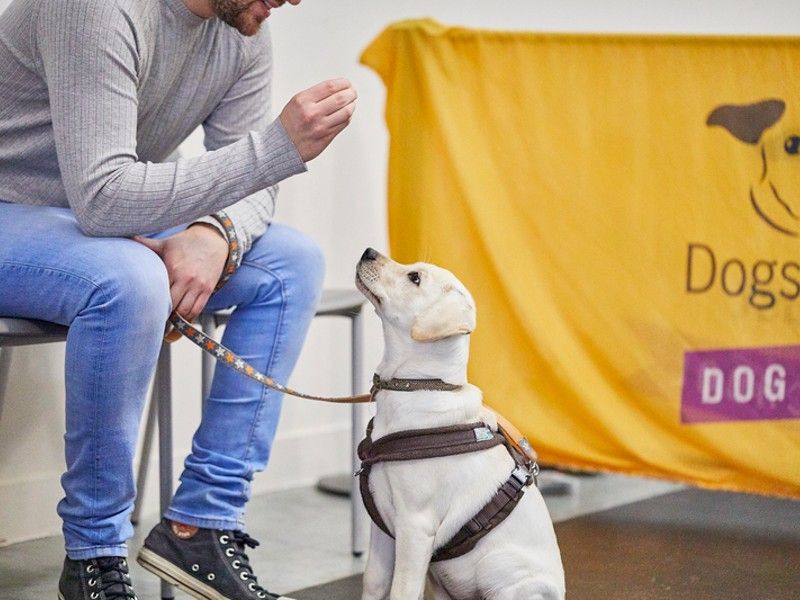
[[[326,81],[270,120],[261,24],[284,2],[14,0],[0,16],[0,315],[70,326],[62,600],[135,598],[132,461],[170,311],[236,306],[225,345],[280,381],[313,317],[321,255],[268,226],[275,185],[347,126],[356,94]],[[201,124],[209,152],[169,161]],[[144,566],[198,598],[278,597],[252,572],[242,516],[279,411],[217,370]]]

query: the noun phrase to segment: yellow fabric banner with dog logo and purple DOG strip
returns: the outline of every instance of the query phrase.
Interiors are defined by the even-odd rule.
[[[473,292],[543,462],[800,498],[800,39],[422,20],[362,61],[392,254]]]

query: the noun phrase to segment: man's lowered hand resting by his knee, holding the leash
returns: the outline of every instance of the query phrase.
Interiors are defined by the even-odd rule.
[[[161,257],[169,274],[172,308],[187,321],[205,307],[228,260],[228,242],[213,225],[199,223],[164,240],[136,236]]]

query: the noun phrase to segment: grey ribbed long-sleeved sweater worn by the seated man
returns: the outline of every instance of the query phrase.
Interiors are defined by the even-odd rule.
[[[245,38],[183,0],[14,0],[0,15],[0,200],[70,206],[94,236],[229,207],[247,250],[270,186],[305,170],[270,121],[271,70],[266,26]],[[201,124],[209,152],[164,162]]]

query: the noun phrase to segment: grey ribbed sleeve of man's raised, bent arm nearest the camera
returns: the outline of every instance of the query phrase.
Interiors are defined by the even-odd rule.
[[[59,0],[42,7],[36,37],[58,165],[86,234],[166,229],[305,170],[278,120],[196,158],[139,161],[139,56],[130,17],[114,2]]]

